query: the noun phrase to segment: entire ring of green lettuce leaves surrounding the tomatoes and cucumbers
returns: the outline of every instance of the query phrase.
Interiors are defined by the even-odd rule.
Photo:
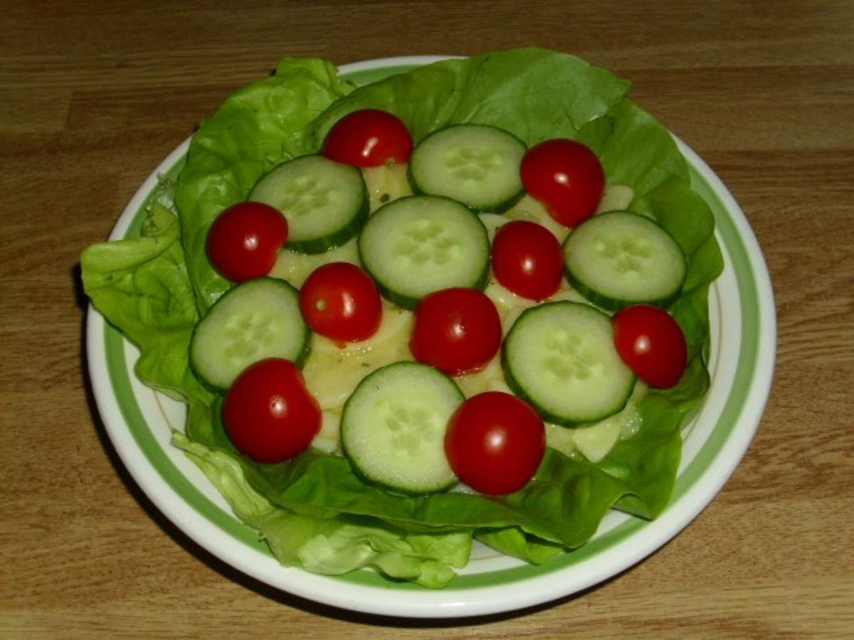
[[[670,134],[626,97],[629,84],[571,55],[513,49],[442,61],[354,90],[328,61],[283,61],[271,78],[238,91],[190,144],[172,212],[152,207],[143,235],[90,247],[84,283],[99,311],[140,347],[137,375],[189,402],[187,451],[284,564],[318,573],[374,567],[395,579],[441,586],[465,564],[471,537],[527,561],[575,548],[608,509],[644,518],[666,507],[681,456],[681,425],[708,388],[708,291],[722,269],[711,210],[688,184]],[[219,399],[192,375],[192,328],[228,282],[205,254],[208,227],[243,200],[272,166],[312,153],[337,119],[383,108],[416,140],[443,125],[475,122],[525,143],[572,137],[600,154],[608,182],[634,190],[630,208],[656,218],[688,260],[670,311],[684,329],[690,365],[680,385],[639,404],[639,433],[600,463],[549,450],[520,492],[404,497],[366,484],[346,459],[307,451],[264,465],[240,456],[222,428]],[[183,438],[183,439],[182,439]]]

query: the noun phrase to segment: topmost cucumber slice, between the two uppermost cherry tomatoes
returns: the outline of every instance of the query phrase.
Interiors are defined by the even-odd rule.
[[[447,126],[412,151],[412,187],[477,212],[501,212],[524,195],[519,166],[525,151],[518,137],[494,126]]]

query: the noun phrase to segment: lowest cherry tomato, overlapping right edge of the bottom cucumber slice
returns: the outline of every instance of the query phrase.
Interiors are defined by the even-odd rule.
[[[489,391],[467,399],[451,416],[445,455],[459,480],[490,496],[528,484],[546,451],[542,418],[524,400]]]

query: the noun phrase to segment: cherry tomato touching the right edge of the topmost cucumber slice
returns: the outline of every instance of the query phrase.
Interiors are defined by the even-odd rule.
[[[529,148],[520,169],[525,190],[560,224],[590,218],[605,193],[605,171],[582,143],[553,138]]]

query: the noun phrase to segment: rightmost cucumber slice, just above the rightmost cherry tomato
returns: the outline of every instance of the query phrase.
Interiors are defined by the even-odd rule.
[[[658,223],[628,211],[600,213],[564,241],[566,277],[609,311],[637,303],[667,306],[681,292],[685,254]]]

